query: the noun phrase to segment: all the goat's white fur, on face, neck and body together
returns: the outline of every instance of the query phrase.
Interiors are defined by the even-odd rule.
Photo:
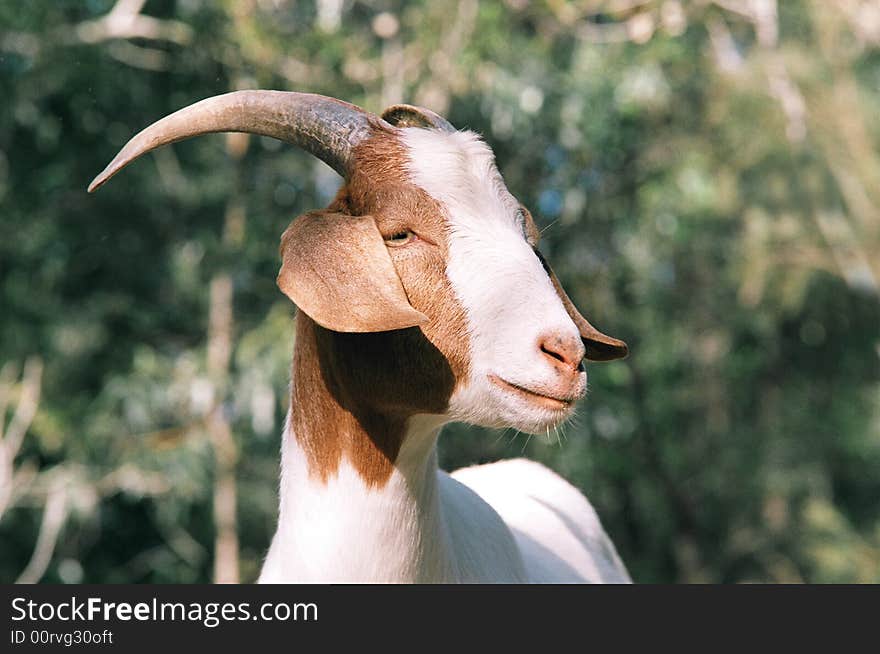
[[[450,224],[447,275],[468,315],[471,375],[447,415],[410,420],[381,488],[366,486],[345,460],[327,483],[309,477],[285,427],[278,531],[260,581],[628,582],[593,508],[550,470],[524,460],[451,476],[437,468],[447,421],[543,432],[568,417],[487,376],[550,389],[554,371],[540,336],[579,337],[526,242],[489,148],[467,132],[404,131],[411,177]]]

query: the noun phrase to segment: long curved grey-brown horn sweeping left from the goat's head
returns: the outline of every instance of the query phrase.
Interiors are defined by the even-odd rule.
[[[212,132],[247,132],[297,145],[343,177],[351,151],[378,119],[360,107],[312,93],[235,91],[196,102],[135,135],[100,175],[89,193],[142,154],[175,141]]]

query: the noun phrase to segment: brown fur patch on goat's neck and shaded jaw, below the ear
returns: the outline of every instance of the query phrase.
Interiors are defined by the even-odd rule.
[[[291,427],[326,482],[345,456],[369,486],[391,476],[414,413],[442,413],[455,379],[418,328],[345,334],[297,317]],[[413,348],[424,348],[412,357]]]

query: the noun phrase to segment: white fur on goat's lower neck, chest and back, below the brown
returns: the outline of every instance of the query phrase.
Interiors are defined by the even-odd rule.
[[[525,460],[437,468],[437,418],[412,421],[382,488],[343,461],[310,478],[285,429],[278,531],[260,583],[624,583],[586,499]]]

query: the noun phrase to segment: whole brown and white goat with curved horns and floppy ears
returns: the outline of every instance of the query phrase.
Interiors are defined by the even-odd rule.
[[[344,178],[281,238],[299,308],[277,532],[260,582],[628,582],[587,499],[524,459],[441,471],[442,426],[544,433],[626,355],[575,309],[491,149],[420,107],[238,91],[147,127],[89,186],[167,143],[248,132]]]

